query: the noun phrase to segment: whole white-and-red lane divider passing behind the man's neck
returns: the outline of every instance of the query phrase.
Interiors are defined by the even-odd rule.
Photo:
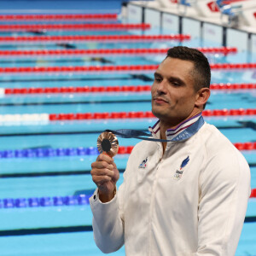
[[[202,112],[205,117],[228,117],[228,116],[253,116],[256,108],[238,109],[207,109]],[[23,113],[23,114],[0,114],[0,124],[3,125],[48,125],[49,122],[100,120],[100,119],[152,119],[155,118],[151,111],[131,112],[103,112],[103,113]]]

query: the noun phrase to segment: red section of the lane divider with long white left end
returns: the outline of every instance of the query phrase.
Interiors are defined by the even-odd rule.
[[[256,108],[249,109],[214,109],[204,110],[203,116],[234,116],[234,115],[255,115]],[[112,113],[50,113],[49,120],[79,120],[79,119],[145,119],[154,118],[151,111],[139,112],[112,112]]]

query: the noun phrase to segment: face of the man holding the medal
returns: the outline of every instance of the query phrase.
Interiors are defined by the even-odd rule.
[[[152,112],[160,121],[175,126],[193,112],[197,96],[193,67],[191,61],[167,57],[154,73]]]

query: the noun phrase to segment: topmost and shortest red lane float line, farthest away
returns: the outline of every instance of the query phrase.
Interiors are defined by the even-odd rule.
[[[7,21],[35,21],[35,20],[117,20],[117,14],[104,15],[0,15],[0,20]]]

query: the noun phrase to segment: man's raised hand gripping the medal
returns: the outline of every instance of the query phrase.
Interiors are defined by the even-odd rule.
[[[102,202],[113,199],[115,184],[119,180],[119,171],[108,154],[100,154],[91,164],[92,180],[99,189],[99,198]]]

